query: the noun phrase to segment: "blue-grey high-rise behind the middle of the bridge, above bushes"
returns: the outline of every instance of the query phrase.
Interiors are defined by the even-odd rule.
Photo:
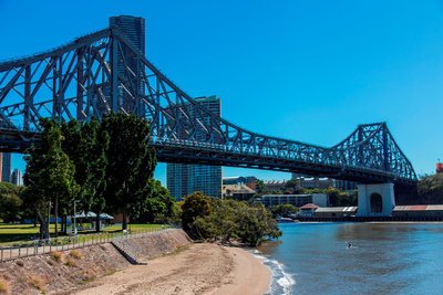
[[[217,96],[199,97],[195,101],[214,114],[222,116],[222,101]],[[193,115],[192,105],[187,106],[189,114]],[[207,122],[209,123],[209,117]],[[176,201],[182,201],[183,197],[199,190],[205,196],[222,198],[223,172],[220,166],[167,164],[166,178],[167,189]]]

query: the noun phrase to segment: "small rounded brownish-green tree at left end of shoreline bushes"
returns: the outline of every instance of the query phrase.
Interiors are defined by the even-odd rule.
[[[188,232],[192,231],[192,224],[197,218],[209,215],[213,212],[209,197],[204,196],[202,191],[186,196],[181,209],[183,229]]]

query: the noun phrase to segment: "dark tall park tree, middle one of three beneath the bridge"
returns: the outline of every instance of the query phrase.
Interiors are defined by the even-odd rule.
[[[105,208],[106,199],[103,192],[106,189],[105,168],[107,165],[106,151],[110,136],[102,130],[95,117],[82,126],[75,119],[62,122],[62,149],[75,165],[75,181],[81,189],[78,198],[80,209],[96,213],[95,229],[100,231],[100,213]],[[68,204],[69,208],[72,204]]]

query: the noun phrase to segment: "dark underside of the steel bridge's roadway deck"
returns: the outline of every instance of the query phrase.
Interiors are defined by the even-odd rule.
[[[24,152],[32,144],[40,146],[38,131],[0,130],[0,151]],[[307,176],[328,177],[356,181],[359,183],[394,183],[395,189],[416,186],[415,181],[394,179],[391,173],[358,167],[332,166],[296,159],[241,154],[217,149],[196,149],[195,147],[152,144],[159,162],[197,164],[253,168],[281,172],[296,172]]]

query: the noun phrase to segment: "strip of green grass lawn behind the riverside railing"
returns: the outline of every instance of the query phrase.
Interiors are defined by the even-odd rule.
[[[161,228],[162,224],[127,224],[127,229],[134,230],[143,230],[143,229],[151,229],[151,228]],[[55,224],[50,224],[50,233],[51,238],[54,235],[54,228]],[[59,223],[59,230],[61,229],[61,224]],[[121,231],[122,225],[112,225],[104,230],[103,232],[116,232]],[[0,224],[0,244],[11,243],[11,242],[20,242],[27,241],[32,236],[39,235],[40,232],[40,224],[37,224],[34,228],[33,224]],[[79,234],[82,233],[92,233],[93,231],[79,231]],[[59,236],[65,236],[59,234]]]

